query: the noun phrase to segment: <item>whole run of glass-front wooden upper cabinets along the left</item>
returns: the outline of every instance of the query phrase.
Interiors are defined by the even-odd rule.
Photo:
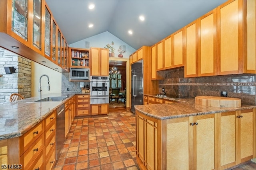
[[[45,0],[1,0],[0,6],[1,47],[58,72],[67,70],[64,58],[61,63],[65,38]]]

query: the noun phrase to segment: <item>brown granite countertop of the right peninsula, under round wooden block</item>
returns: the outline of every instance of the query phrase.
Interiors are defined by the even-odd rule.
[[[153,96],[154,95],[147,95]],[[134,106],[136,111],[143,113],[144,115],[156,118],[156,119],[174,119],[179,117],[188,117],[196,115],[205,115],[211,113],[220,113],[227,111],[236,111],[242,109],[252,109],[256,108],[254,105],[244,105],[241,107],[210,107],[201,106],[195,104],[194,98],[182,98],[182,99],[172,99],[166,97],[159,97],[167,100],[176,101],[177,103],[172,104],[150,104],[150,105],[137,105]]]

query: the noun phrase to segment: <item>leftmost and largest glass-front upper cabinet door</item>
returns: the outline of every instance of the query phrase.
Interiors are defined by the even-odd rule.
[[[28,37],[28,6],[31,1],[28,0],[12,0],[12,25],[9,34],[30,47]]]

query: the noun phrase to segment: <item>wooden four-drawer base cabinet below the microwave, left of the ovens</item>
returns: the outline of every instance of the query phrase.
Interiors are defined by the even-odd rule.
[[[86,116],[90,114],[90,95],[77,94],[76,95],[76,116]]]

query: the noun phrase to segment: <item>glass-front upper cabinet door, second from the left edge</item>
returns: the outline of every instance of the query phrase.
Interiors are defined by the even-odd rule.
[[[41,0],[33,0],[33,38],[31,48],[40,53],[42,51],[42,2]]]

